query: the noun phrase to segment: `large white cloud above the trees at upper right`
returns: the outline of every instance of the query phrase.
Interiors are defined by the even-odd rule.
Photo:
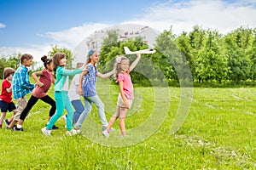
[[[145,9],[145,13],[136,20],[126,23],[140,23],[160,31],[170,29],[176,34],[191,31],[193,26],[217,29],[223,33],[239,26],[256,26],[255,1],[225,3],[224,1],[186,1],[155,4]]]

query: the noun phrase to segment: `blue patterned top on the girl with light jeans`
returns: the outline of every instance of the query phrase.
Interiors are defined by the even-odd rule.
[[[84,75],[84,80],[82,84],[83,92],[85,97],[91,97],[96,95],[96,67],[94,65],[86,65],[89,66],[87,69],[87,74]]]

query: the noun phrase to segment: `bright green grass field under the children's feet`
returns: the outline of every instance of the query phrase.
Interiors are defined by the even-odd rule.
[[[125,138],[119,134],[118,122],[114,125],[117,131],[109,139],[102,136],[95,106],[84,122],[83,134],[68,137],[60,119],[56,125],[61,129],[44,136],[41,128],[47,121],[49,106],[39,101],[27,116],[23,132],[7,130],[5,126],[0,129],[0,169],[256,168],[256,88],[194,88],[189,116],[175,134],[170,130],[181,93],[180,88],[168,89],[169,92],[166,88],[135,88],[136,99],[126,118]],[[118,88],[101,81],[97,91],[109,120]],[[166,93],[170,99],[156,103],[155,95]],[[53,96],[52,88],[49,95]],[[162,117],[163,123],[152,135],[144,135],[152,132],[147,126],[143,130],[141,125],[153,114],[157,121]],[[149,129],[150,126],[158,127],[149,124]],[[126,143],[133,138],[134,143]]]

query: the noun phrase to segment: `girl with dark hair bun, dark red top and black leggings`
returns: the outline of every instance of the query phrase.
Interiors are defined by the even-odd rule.
[[[26,116],[28,115],[29,111],[31,111],[32,106],[36,105],[38,102],[38,99],[41,99],[45,103],[49,104],[51,106],[49,110],[49,117],[48,121],[51,116],[55,114],[56,105],[55,100],[50,98],[49,95],[46,93],[48,92],[51,83],[55,84],[55,78],[53,77],[52,71],[53,71],[53,61],[52,59],[48,59],[46,55],[44,55],[41,60],[44,63],[44,70],[33,72],[32,77],[35,79],[36,82],[38,82],[38,86],[33,89],[32,96],[28,100],[28,103],[26,105],[26,108],[21,112],[19,123],[17,124],[17,127],[14,127],[15,131],[22,131],[22,124],[26,119]],[[38,79],[38,77],[40,77]],[[53,129],[58,129],[59,127],[53,126]]]

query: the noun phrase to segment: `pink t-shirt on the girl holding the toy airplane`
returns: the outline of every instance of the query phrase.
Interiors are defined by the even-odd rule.
[[[131,76],[128,72],[120,72],[118,75],[118,82],[123,81],[123,90],[127,99],[133,99],[133,85],[131,82]]]

